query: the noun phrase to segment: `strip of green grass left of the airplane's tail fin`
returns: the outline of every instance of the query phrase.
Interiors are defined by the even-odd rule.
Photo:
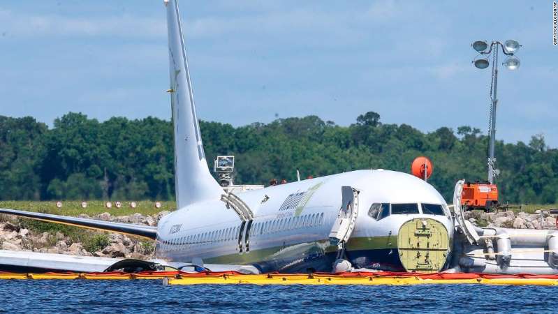
[[[155,207],[152,201],[137,201],[137,207],[130,207],[131,201],[121,201],[122,207],[117,208],[115,202],[112,202],[112,208],[106,208],[104,201],[87,201],[87,207],[81,207],[81,201],[61,201],[62,207],[57,208],[56,201],[52,202],[35,202],[35,201],[0,201],[0,208],[21,209],[23,211],[36,211],[48,214],[57,214],[64,216],[78,216],[79,214],[87,214],[94,216],[102,214],[105,211],[112,216],[125,216],[135,213],[142,215],[157,214],[160,211],[173,211],[176,208],[175,202],[161,202],[161,208]]]

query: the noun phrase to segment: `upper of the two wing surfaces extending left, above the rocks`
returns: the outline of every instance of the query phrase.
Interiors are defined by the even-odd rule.
[[[130,234],[133,236],[144,237],[152,240],[157,238],[157,227],[151,227],[147,225],[133,225],[131,223],[113,223],[104,220],[34,213],[31,211],[20,211],[16,209],[3,209],[3,208],[0,208],[0,214],[8,214],[8,215],[14,215],[18,217],[31,218],[35,220],[43,220],[49,223],[61,223],[64,225],[74,225],[77,227],[85,227],[85,228],[95,229],[95,230],[105,230],[105,231],[118,232],[123,234]]]

